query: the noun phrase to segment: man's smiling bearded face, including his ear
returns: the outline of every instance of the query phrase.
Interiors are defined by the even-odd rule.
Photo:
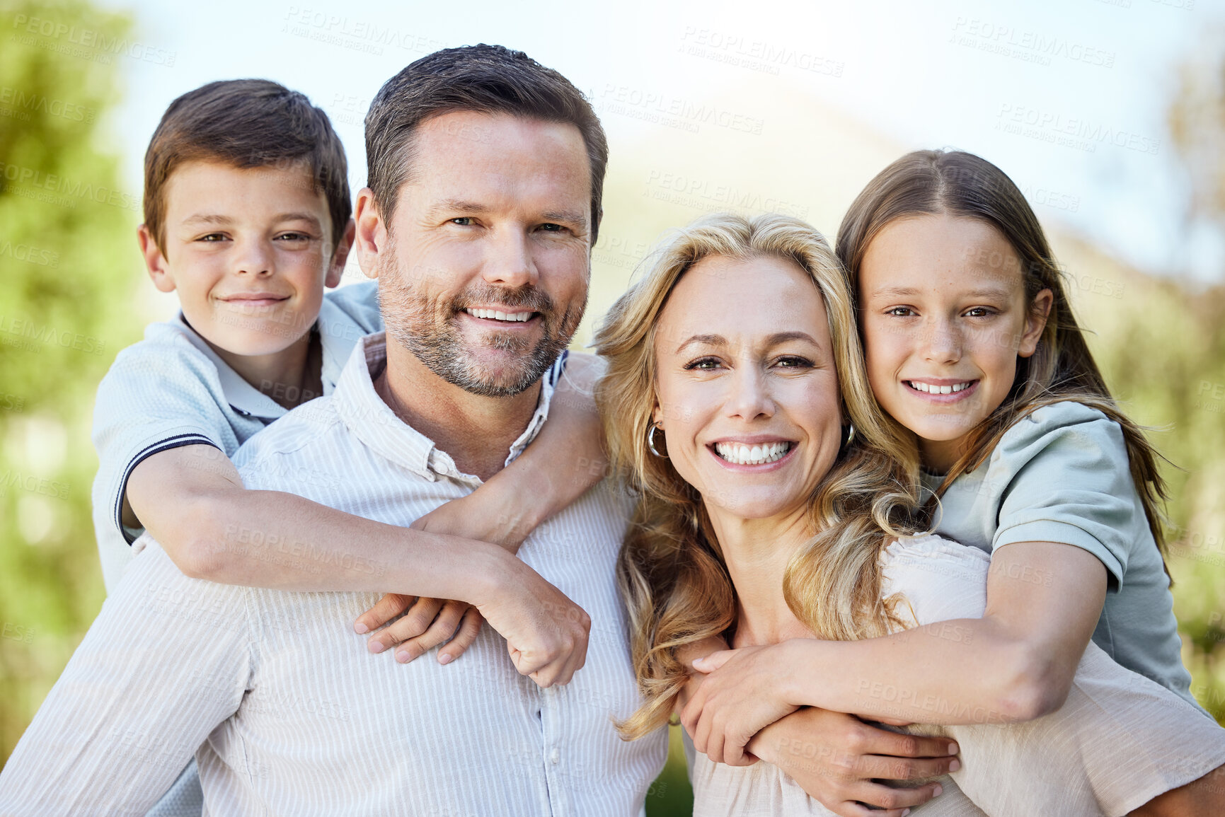
[[[387,336],[474,394],[535,383],[565,349],[590,278],[590,169],[578,129],[442,114],[417,131],[391,223],[359,194],[360,261]]]

